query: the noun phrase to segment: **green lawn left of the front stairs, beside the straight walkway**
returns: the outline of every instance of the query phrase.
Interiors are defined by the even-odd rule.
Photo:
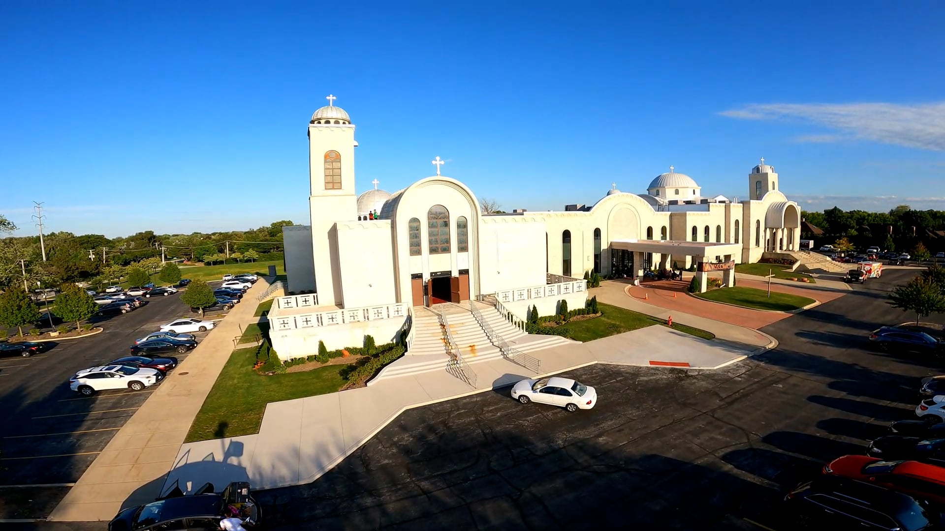
[[[184,442],[258,433],[266,403],[334,393],[347,383],[338,375],[344,365],[261,376],[255,361],[255,348],[232,352]]]

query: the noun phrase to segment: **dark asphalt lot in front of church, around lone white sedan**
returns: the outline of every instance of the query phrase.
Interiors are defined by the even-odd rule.
[[[909,419],[936,360],[866,349],[903,315],[888,270],[766,327],[780,346],[718,371],[593,366],[590,411],[507,389],[405,412],[312,484],[257,492],[272,529],[790,529],[787,489]],[[931,319],[942,322],[942,316]]]

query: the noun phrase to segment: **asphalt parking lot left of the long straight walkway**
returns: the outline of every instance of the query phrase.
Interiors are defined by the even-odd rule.
[[[6,419],[0,436],[0,518],[48,514],[156,388],[82,397],[69,389],[69,377],[128,355],[136,338],[185,316],[197,317],[180,294],[151,298],[128,314],[94,318],[101,334],[49,343],[51,349],[29,358],[0,358],[0,410]],[[212,333],[195,335],[200,341]],[[183,361],[189,354],[174,355]]]

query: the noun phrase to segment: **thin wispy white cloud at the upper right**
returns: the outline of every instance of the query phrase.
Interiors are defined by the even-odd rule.
[[[831,128],[859,140],[945,151],[945,102],[916,105],[765,103],[750,104],[720,114],[743,120],[801,121]]]

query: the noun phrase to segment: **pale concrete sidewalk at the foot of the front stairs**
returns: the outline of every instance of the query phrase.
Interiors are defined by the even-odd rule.
[[[757,346],[708,341],[651,326],[531,355],[541,359],[541,375],[550,375],[595,363],[719,368],[744,359]],[[471,365],[477,375],[477,387],[473,388],[445,370],[445,356],[443,362],[443,370],[269,403],[257,435],[184,444],[167,485],[177,481],[187,491],[208,481],[214,485],[249,481],[252,488],[259,489],[309,483],[352,454],[405,409],[540,376],[504,358],[491,359]]]

